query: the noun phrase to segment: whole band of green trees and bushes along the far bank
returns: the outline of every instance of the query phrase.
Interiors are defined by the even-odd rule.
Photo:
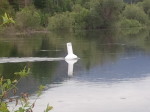
[[[17,30],[80,30],[145,27],[149,0],[1,0],[0,16],[9,14]],[[0,18],[2,24],[2,18]]]

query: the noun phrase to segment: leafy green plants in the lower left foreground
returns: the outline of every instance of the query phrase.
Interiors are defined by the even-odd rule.
[[[20,78],[24,76],[28,76],[30,73],[30,69],[24,68],[20,72],[16,72],[15,74],[19,75]],[[9,93],[13,92],[13,94],[16,94],[16,84],[18,83],[18,80],[10,80],[10,79],[4,79],[3,76],[0,78],[0,112],[33,112],[34,105],[36,103],[36,100],[41,95],[41,91],[43,91],[44,86],[39,87],[39,91],[37,95],[37,99],[31,103],[29,101],[29,95],[28,93],[22,93],[20,98],[14,98],[9,97]],[[9,103],[13,102],[15,103],[15,107],[11,110],[9,108]],[[16,109],[15,109],[16,108]],[[44,112],[49,112],[53,107],[47,105],[46,110]]]

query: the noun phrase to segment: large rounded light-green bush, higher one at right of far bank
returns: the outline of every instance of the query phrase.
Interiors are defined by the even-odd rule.
[[[144,12],[143,8],[136,5],[128,5],[123,11],[123,16],[127,19],[137,20],[142,24],[148,23],[148,16]]]

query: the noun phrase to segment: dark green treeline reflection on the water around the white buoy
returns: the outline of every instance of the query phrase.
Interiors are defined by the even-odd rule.
[[[120,57],[134,55],[135,52],[150,54],[150,30],[124,29],[50,32],[10,37],[1,35],[0,57],[65,57],[67,42],[72,42],[74,53],[81,58],[78,68],[87,71],[98,65],[115,62]],[[13,79],[13,73],[25,66],[31,68],[30,78],[23,80],[30,82],[27,86],[31,83],[61,83],[67,78],[65,61],[1,63],[0,74]]]

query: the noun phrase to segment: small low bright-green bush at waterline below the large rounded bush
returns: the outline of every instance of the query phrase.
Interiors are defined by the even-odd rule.
[[[141,27],[142,25],[137,20],[133,19],[123,19],[119,22],[121,28],[132,28],[132,27]]]

